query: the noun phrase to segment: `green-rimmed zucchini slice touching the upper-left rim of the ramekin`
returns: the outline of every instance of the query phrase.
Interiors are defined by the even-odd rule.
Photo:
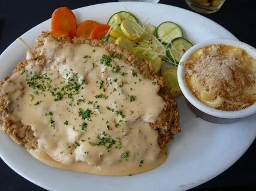
[[[180,58],[183,56],[183,54],[193,45],[185,38],[176,38],[173,39],[173,41],[171,42],[170,48],[168,48],[168,46],[169,45],[167,45],[166,51],[167,57],[170,58],[172,61],[179,63]]]

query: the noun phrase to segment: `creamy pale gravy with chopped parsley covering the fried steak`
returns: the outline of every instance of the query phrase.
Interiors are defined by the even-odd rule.
[[[149,125],[164,108],[155,82],[100,47],[47,37],[38,53],[44,67],[28,51],[28,66],[2,86],[9,117],[31,125],[37,152],[61,168],[103,175],[137,174],[165,161]]]

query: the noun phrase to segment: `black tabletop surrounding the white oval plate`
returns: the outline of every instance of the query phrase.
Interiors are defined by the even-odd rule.
[[[0,0],[0,54],[20,35],[42,21],[49,19],[55,8],[67,6],[72,10],[103,2],[115,1]],[[226,0],[220,11],[213,14],[203,14],[203,16],[221,24],[240,41],[256,47],[256,14],[253,2],[249,0]],[[185,0],[162,0],[159,3],[189,10]],[[233,190],[235,188],[237,190],[256,190],[255,150],[256,141],[252,143],[239,161],[227,171],[192,190]],[[6,190],[44,189],[20,177],[0,159],[0,191]]]

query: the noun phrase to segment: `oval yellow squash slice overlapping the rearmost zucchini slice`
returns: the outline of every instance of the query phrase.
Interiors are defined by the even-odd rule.
[[[121,23],[121,30],[131,41],[140,41],[143,39],[144,29],[134,21],[124,20]]]

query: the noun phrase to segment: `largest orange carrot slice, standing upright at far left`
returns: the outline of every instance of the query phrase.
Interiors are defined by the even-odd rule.
[[[67,7],[57,8],[52,14],[52,31],[64,30],[70,38],[76,35],[77,21],[74,13]]]

